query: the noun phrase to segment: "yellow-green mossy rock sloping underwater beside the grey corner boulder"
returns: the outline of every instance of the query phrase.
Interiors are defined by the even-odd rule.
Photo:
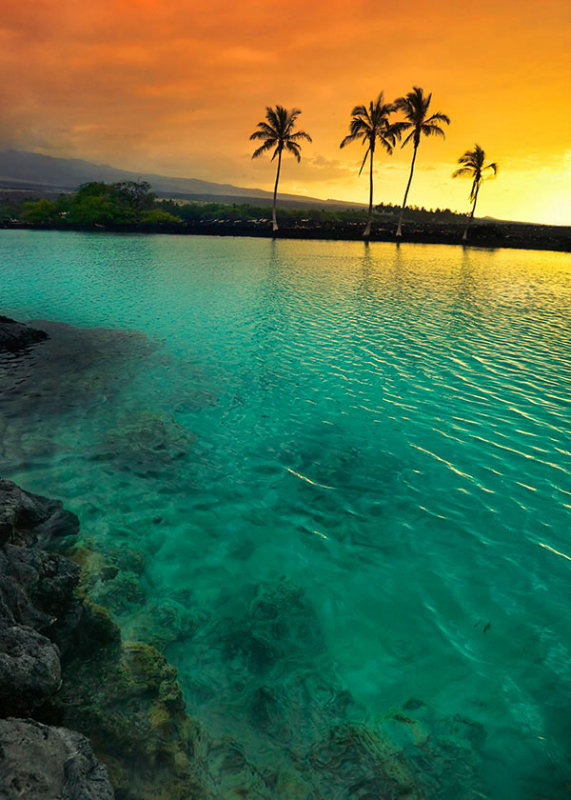
[[[198,726],[185,714],[176,670],[150,645],[118,642],[64,668],[57,708],[89,735],[120,800],[190,800]]]

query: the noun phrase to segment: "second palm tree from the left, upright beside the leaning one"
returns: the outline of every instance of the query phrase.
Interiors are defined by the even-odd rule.
[[[395,107],[392,103],[384,102],[382,92],[379,93],[376,100],[371,100],[368,108],[366,106],[355,106],[353,111],[351,111],[351,122],[349,123],[349,130],[351,132],[339,145],[340,147],[345,147],[346,144],[354,142],[356,139],[361,139],[362,143],[367,145],[367,151],[363,158],[359,175],[363,171],[367,156],[370,156],[369,216],[367,225],[363,231],[364,237],[371,235],[371,221],[373,218],[373,156],[375,154],[375,145],[378,141],[390,155],[393,152],[393,147],[399,136],[396,126],[389,122],[389,116],[394,110]]]

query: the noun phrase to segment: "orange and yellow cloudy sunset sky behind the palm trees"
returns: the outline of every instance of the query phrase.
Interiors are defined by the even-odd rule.
[[[313,137],[283,191],[366,202],[351,108],[383,89],[433,93],[452,119],[425,139],[409,202],[468,206],[457,158],[499,162],[478,213],[571,224],[567,0],[24,0],[0,17],[0,147],[273,188],[249,134],[266,105]],[[410,145],[379,152],[375,201],[400,203]]]

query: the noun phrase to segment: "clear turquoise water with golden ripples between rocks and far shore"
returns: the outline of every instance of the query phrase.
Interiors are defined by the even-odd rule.
[[[261,768],[303,776],[352,721],[424,796],[566,796],[569,256],[29,231],[0,254],[1,313],[147,337],[10,384],[1,472],[139,554],[93,592],[190,714]]]

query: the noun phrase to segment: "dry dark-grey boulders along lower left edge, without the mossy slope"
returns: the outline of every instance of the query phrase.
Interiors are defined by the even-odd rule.
[[[61,503],[0,481],[1,798],[113,797],[88,740],[38,722],[62,684],[62,628],[74,616],[78,625],[81,609],[79,568],[37,544],[77,529]]]

